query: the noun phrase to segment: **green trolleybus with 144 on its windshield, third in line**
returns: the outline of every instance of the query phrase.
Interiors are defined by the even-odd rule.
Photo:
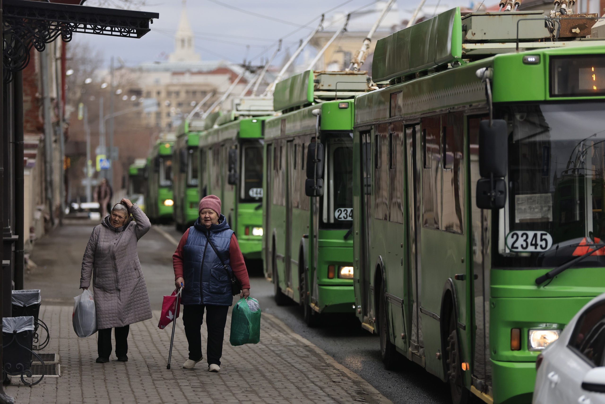
[[[200,197],[221,199],[221,213],[247,260],[261,259],[263,236],[263,125],[272,100],[239,97],[200,136]]]

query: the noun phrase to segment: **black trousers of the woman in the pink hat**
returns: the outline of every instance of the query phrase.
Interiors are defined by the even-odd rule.
[[[208,365],[214,363],[220,366],[229,306],[183,305],[183,325],[187,342],[189,342],[189,359],[200,360],[202,357],[200,330],[204,319],[204,308],[206,308],[206,326],[208,328],[208,345],[206,346]]]

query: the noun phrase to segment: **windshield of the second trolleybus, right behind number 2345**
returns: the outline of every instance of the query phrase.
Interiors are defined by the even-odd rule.
[[[321,227],[349,229],[353,226],[353,138],[346,133],[325,137],[324,196]]]

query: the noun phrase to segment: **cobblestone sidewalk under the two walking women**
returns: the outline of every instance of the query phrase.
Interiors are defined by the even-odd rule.
[[[357,374],[322,349],[263,313],[261,342],[231,346],[227,318],[221,372],[209,373],[205,359],[183,369],[187,341],[177,321],[171,369],[166,369],[172,325],[157,328],[159,311],[131,325],[129,362],[95,363],[96,334],[80,339],[71,326],[71,306],[42,306],[50,327],[45,353],[60,356],[61,377],[45,377],[29,388],[13,377],[7,393],[16,403],[381,403],[392,404]],[[206,326],[202,346],[206,351]],[[115,346],[115,345],[114,345]]]

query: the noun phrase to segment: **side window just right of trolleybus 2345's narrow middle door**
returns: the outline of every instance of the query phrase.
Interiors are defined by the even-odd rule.
[[[422,170],[422,225],[425,228],[439,229],[441,211],[441,155],[440,155],[441,118],[422,119],[422,137],[426,162]]]

